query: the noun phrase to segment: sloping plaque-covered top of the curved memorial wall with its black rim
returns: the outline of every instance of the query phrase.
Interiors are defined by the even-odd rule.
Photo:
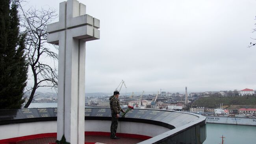
[[[122,112],[120,115],[122,115]],[[39,118],[41,121],[56,120],[57,108],[0,110],[0,125],[38,121]],[[111,110],[110,108],[85,108],[85,120],[86,119],[111,120]],[[139,120],[136,121],[136,119]],[[165,126],[170,129],[186,124],[193,119],[197,119],[197,116],[175,111],[154,109],[134,109],[127,112],[124,117],[120,117],[120,121],[145,122]]]

